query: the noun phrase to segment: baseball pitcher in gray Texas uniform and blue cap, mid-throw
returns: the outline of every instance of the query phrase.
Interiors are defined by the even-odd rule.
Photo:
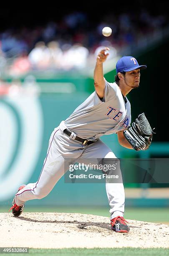
[[[153,131],[144,113],[131,124],[131,107],[126,95],[139,87],[140,69],[132,56],[124,56],[116,64],[114,83],[103,77],[103,62],[108,48],[100,51],[94,69],[95,91],[60,125],[50,136],[47,156],[38,181],[19,187],[13,205],[14,216],[19,216],[28,200],[47,196],[64,174],[64,161],[68,159],[114,159],[111,148],[100,137],[116,133],[121,146],[146,150]],[[131,124],[131,125],[130,125]],[[73,160],[72,160],[73,161]],[[111,228],[116,232],[129,232],[124,219],[124,185],[106,182],[106,193],[110,205]]]

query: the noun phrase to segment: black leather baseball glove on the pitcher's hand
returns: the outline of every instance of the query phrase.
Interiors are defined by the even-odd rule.
[[[154,130],[154,129],[153,129]],[[136,121],[124,130],[124,136],[131,146],[136,150],[146,150],[149,148],[153,131],[144,113],[140,114]]]

